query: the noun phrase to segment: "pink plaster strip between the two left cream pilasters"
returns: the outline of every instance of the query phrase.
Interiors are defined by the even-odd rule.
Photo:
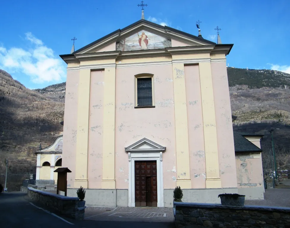
[[[89,188],[101,188],[102,181],[104,74],[104,70],[91,72],[88,143]]]

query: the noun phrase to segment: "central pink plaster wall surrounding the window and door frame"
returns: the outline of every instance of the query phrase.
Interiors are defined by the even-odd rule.
[[[134,108],[137,74],[154,74],[155,108]],[[176,144],[172,66],[116,69],[115,175],[116,188],[128,188],[128,154],[125,147],[147,138],[166,147],[163,153],[163,187],[176,186]]]

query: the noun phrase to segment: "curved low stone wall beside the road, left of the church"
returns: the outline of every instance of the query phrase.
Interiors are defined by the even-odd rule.
[[[31,200],[40,202],[51,208],[53,211],[61,213],[67,217],[81,220],[85,214],[85,208],[78,208],[78,197],[67,197],[53,194],[47,191],[42,191],[28,187],[28,197]]]

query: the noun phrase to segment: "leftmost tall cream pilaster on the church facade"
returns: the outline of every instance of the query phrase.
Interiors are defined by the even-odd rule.
[[[89,98],[91,69],[80,70],[74,187],[88,188]]]

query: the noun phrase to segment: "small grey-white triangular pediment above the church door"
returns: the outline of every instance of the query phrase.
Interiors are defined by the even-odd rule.
[[[165,151],[166,147],[163,147],[157,143],[154,143],[153,141],[143,138],[136,143],[128,146],[125,148],[126,151],[131,152],[131,151],[152,151],[152,152],[160,152],[160,151]]]

